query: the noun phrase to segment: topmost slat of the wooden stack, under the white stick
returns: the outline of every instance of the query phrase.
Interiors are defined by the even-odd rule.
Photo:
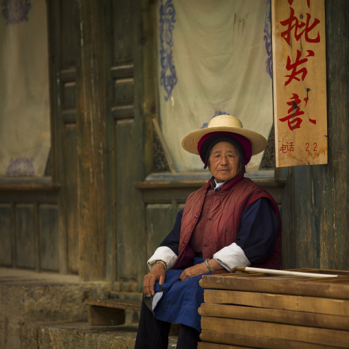
[[[304,269],[307,270],[308,269]],[[205,289],[225,289],[235,291],[258,291],[289,295],[306,295],[313,297],[349,300],[349,278],[347,271],[328,271],[341,276],[326,279],[284,279],[266,278],[264,274],[251,274],[240,277],[238,274],[203,275],[200,286]]]

